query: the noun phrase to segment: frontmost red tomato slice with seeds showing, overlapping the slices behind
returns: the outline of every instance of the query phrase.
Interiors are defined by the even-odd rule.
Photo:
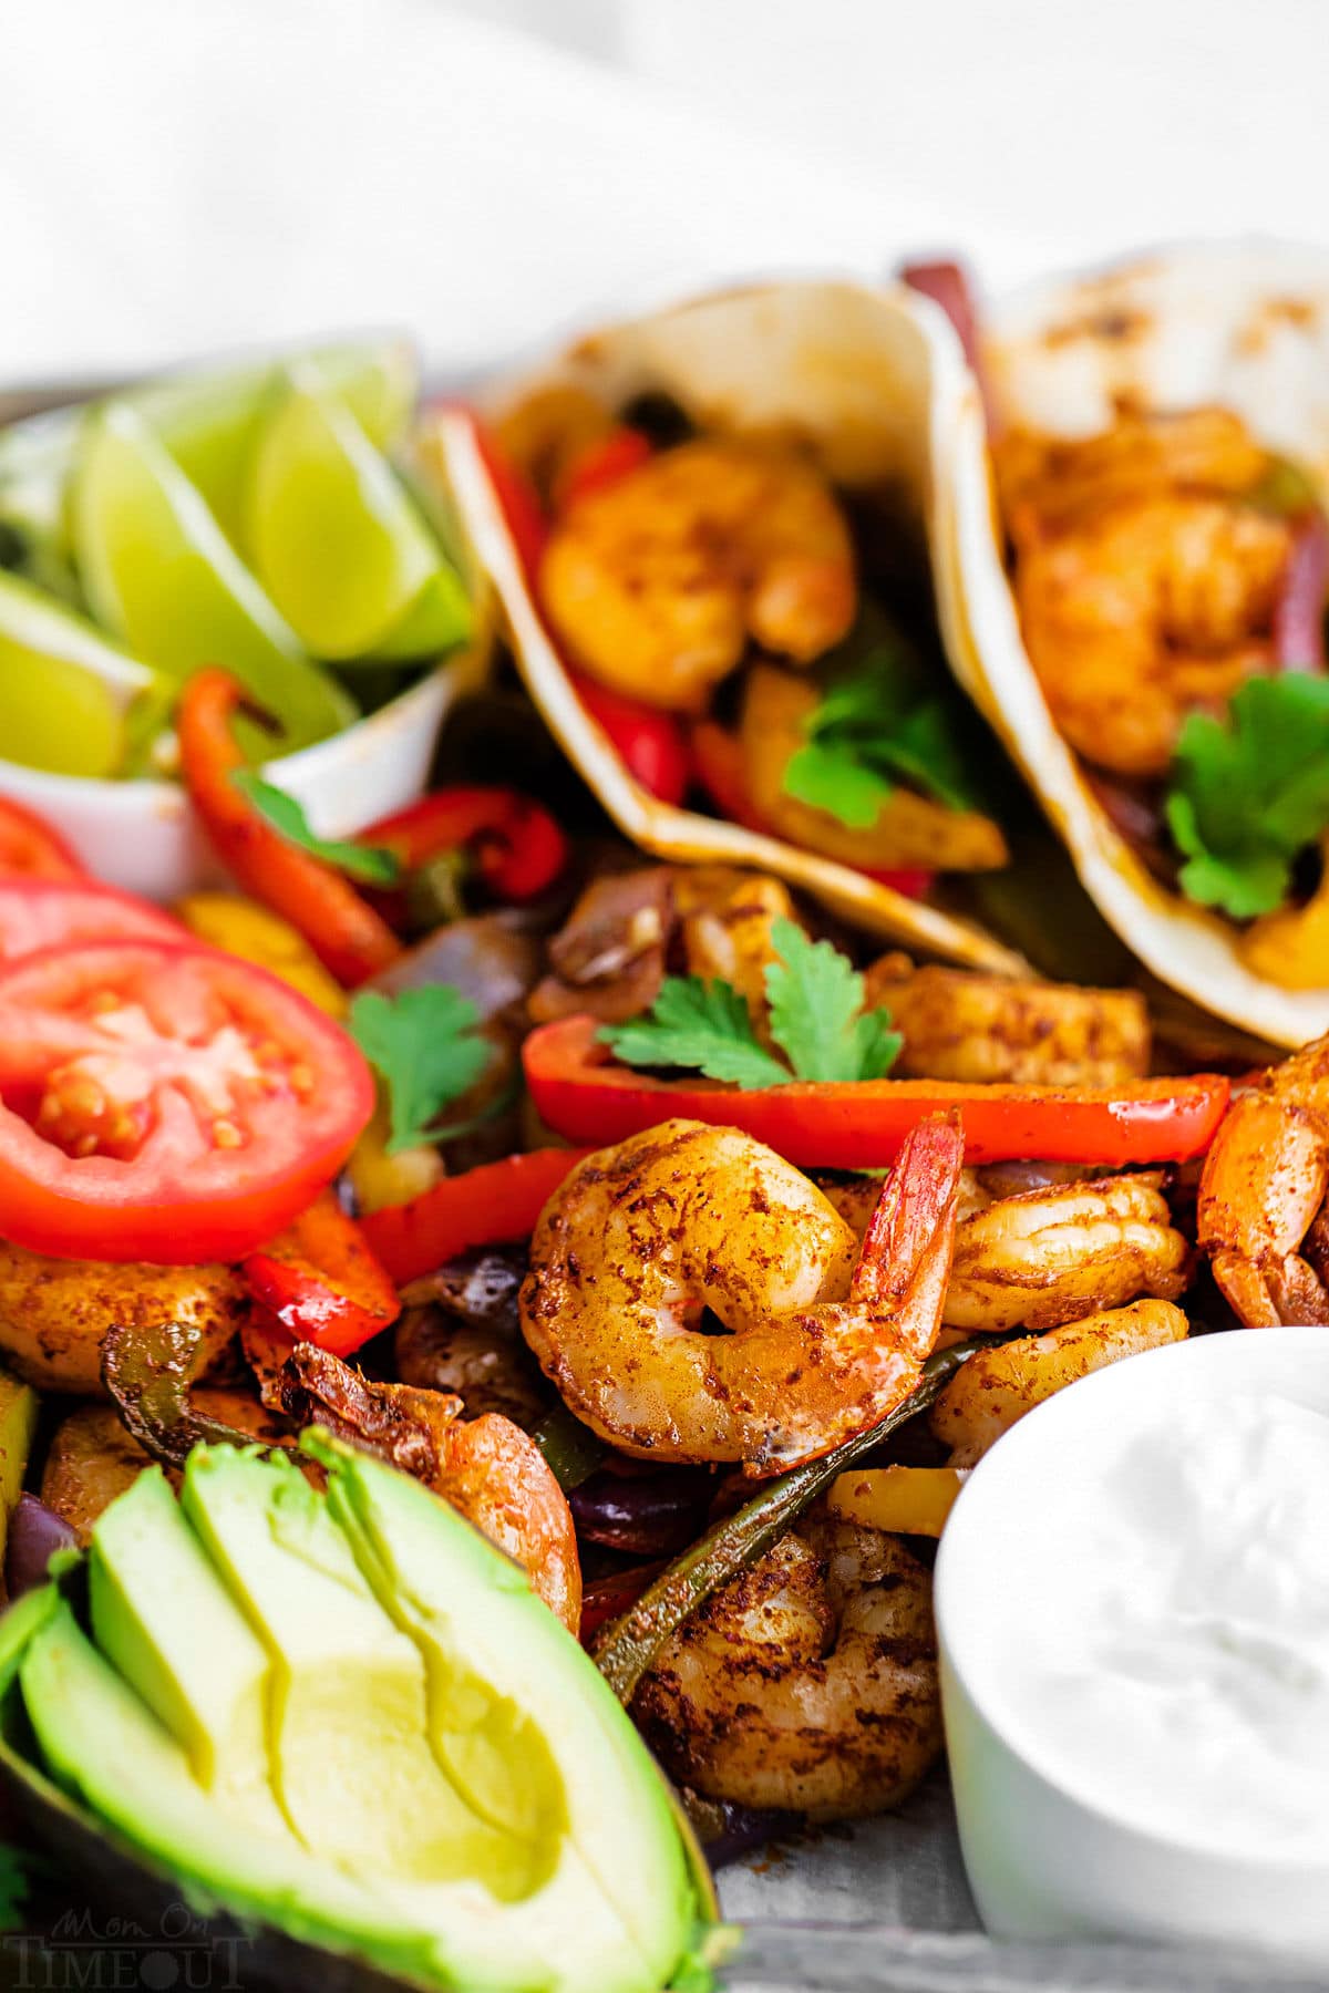
[[[0,1224],[34,1252],[239,1260],[373,1104],[345,1030],[233,955],[88,941],[0,971]]]

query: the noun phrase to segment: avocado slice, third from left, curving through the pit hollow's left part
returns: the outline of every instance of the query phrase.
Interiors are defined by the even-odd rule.
[[[496,1832],[430,1752],[424,1666],[287,1459],[195,1449],[181,1509],[267,1648],[277,1798],[315,1853],[406,1879],[538,1881],[548,1848]]]

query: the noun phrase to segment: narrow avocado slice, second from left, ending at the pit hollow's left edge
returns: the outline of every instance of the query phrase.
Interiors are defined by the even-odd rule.
[[[197,1782],[235,1820],[285,1834],[269,1786],[267,1652],[159,1467],[94,1525],[88,1594],[98,1648],[161,1718]]]

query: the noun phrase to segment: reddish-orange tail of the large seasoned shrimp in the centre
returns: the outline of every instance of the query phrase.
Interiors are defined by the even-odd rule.
[[[877,1200],[851,1301],[901,1325],[901,1347],[919,1361],[936,1339],[950,1274],[964,1166],[964,1128],[956,1112],[936,1114],[905,1138]]]

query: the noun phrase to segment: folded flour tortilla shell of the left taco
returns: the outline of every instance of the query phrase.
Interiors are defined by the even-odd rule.
[[[841,486],[891,488],[919,556],[932,540],[934,452],[964,393],[958,349],[936,307],[907,291],[787,283],[703,297],[582,339],[540,373],[506,383],[494,413],[568,385],[618,411],[662,391],[703,432],[789,438]],[[789,881],[857,927],[1006,975],[1024,959],[980,927],[831,859],[735,823],[675,809],[632,779],[576,698],[550,642],[464,415],[438,417],[448,482],[508,622],[532,700],[620,831],[677,863],[725,861]]]

